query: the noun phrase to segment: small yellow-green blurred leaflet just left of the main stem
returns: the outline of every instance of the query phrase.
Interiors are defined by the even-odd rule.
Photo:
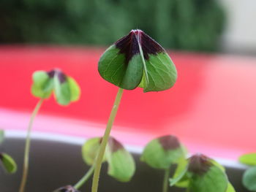
[[[99,152],[100,140],[99,137],[88,139],[82,147],[83,161],[90,166],[94,164],[94,160]]]

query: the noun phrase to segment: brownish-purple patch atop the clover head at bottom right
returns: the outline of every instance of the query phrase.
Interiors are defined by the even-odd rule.
[[[210,166],[212,166],[210,160],[210,158],[203,154],[192,155],[192,157],[189,158],[188,171],[200,175],[205,174],[208,172],[208,169],[210,169]]]

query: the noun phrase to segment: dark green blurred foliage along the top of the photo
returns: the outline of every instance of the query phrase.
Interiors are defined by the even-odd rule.
[[[214,0],[1,0],[1,44],[110,45],[140,28],[166,48],[216,51]]]

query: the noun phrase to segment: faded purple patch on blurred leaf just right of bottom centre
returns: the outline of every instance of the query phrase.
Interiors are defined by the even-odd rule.
[[[177,137],[173,135],[166,135],[163,137],[159,137],[158,140],[159,140],[159,143],[164,148],[164,150],[176,150],[178,147],[181,147]]]

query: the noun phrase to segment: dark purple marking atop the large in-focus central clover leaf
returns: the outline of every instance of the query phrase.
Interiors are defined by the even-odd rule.
[[[148,54],[154,54],[165,52],[164,48],[159,45],[154,39],[149,37],[143,31],[136,29],[129,32],[129,34],[117,42],[116,47],[120,50],[119,53],[125,55],[125,63],[128,64],[131,58],[140,53],[140,46],[143,50],[143,56],[148,60]]]

